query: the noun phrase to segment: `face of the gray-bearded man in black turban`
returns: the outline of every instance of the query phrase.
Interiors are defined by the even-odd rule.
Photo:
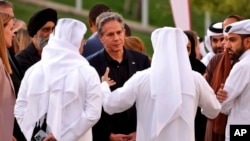
[[[41,29],[39,29],[34,36],[37,40],[37,44],[40,50],[43,49],[45,45],[48,44],[49,35],[54,31],[55,24],[51,21],[48,21]]]

